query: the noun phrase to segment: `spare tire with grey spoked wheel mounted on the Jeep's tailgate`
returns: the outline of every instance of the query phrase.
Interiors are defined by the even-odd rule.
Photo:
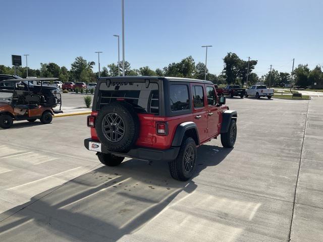
[[[131,104],[113,102],[99,110],[95,130],[108,150],[127,152],[138,139],[139,118]]]

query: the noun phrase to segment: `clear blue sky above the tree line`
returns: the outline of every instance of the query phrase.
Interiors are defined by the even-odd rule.
[[[71,67],[76,56],[100,66],[118,61],[121,0],[0,0],[0,65],[29,54],[28,67],[54,62]],[[321,0],[125,0],[125,59],[131,68],[163,68],[192,55],[219,75],[223,57],[235,52],[258,60],[259,76],[323,64]],[[24,56],[23,56],[24,57]],[[23,58],[23,66],[26,61]],[[96,65],[93,71],[97,72]]]

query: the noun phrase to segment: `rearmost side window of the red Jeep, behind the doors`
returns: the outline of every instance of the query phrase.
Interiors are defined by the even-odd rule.
[[[172,111],[187,110],[190,108],[188,87],[186,85],[171,85],[170,99]]]

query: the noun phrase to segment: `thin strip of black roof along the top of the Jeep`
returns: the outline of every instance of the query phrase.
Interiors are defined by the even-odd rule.
[[[180,78],[180,77],[151,77],[151,76],[140,76],[140,77],[100,77],[98,80],[98,84],[105,83],[107,80],[118,81],[118,82],[145,82],[147,79],[150,81],[153,80],[161,80],[161,81],[176,81],[176,82],[194,82],[194,83],[204,83],[213,85],[210,81],[198,80],[198,79],[191,79],[191,78]]]

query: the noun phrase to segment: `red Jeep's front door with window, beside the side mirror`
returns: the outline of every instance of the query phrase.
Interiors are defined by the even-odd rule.
[[[211,85],[205,86],[207,98],[207,136],[208,138],[212,138],[220,132],[220,109],[217,106],[216,90]]]

